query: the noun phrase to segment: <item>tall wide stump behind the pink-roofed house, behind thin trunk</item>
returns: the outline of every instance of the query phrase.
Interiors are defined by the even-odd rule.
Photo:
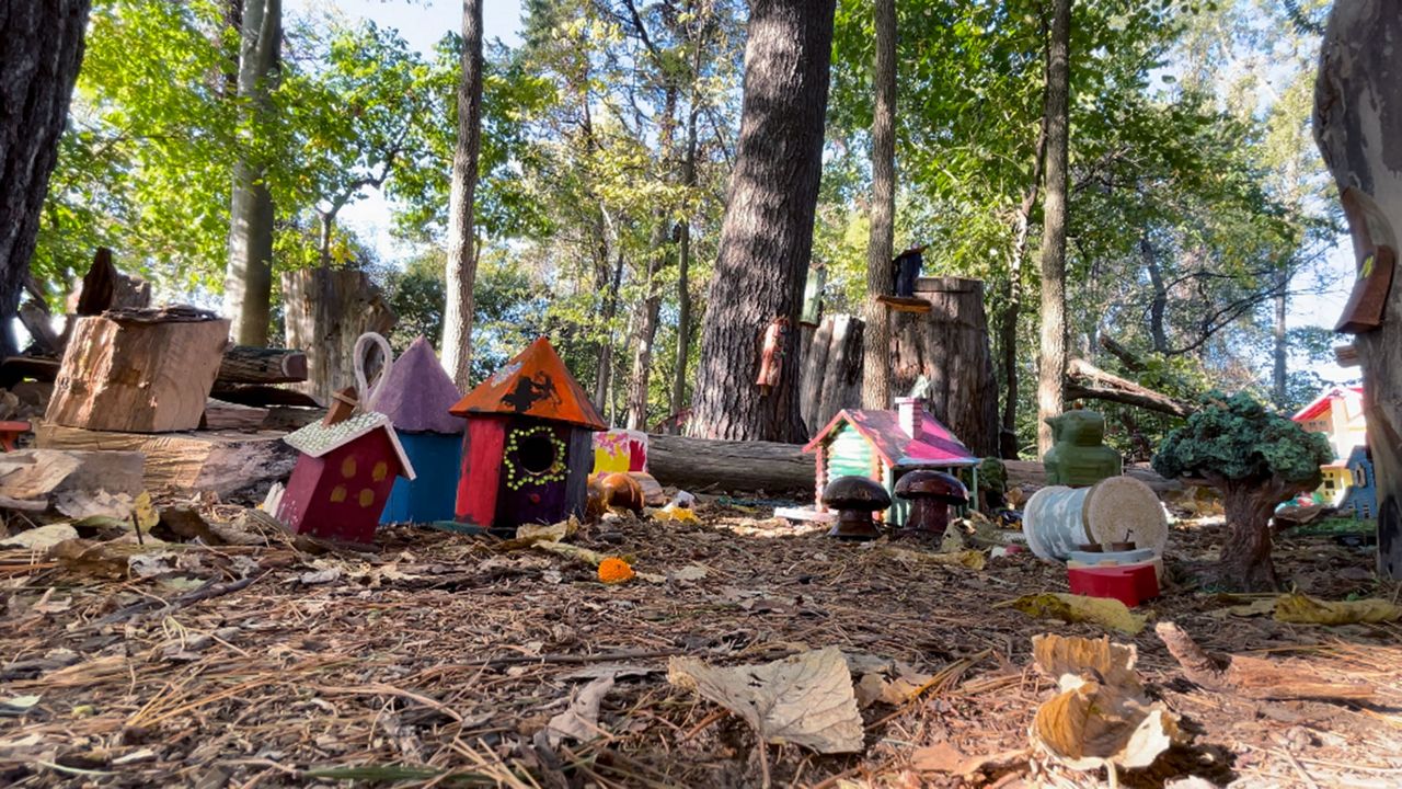
[[[998,380],[993,373],[983,282],[921,277],[916,298],[928,313],[892,316],[892,385],[908,392],[920,376],[930,389],[925,407],[974,455],[998,453]]]

